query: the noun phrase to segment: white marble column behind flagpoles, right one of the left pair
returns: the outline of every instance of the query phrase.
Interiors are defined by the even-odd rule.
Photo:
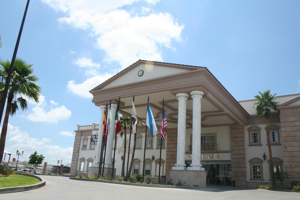
[[[107,144],[106,144],[106,156],[105,156],[105,167],[112,168],[111,160],[113,155],[113,141],[116,136],[116,120],[115,120],[115,114],[117,110],[117,104],[113,104],[110,106],[110,113],[112,115],[112,123],[110,124],[110,127],[108,127],[108,136],[107,136]],[[108,124],[107,124],[108,126]]]

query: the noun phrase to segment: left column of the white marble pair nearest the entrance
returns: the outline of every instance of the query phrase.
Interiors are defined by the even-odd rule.
[[[177,160],[173,170],[186,170],[185,167],[185,128],[186,128],[186,107],[187,93],[176,94],[178,100],[178,129],[177,129]]]

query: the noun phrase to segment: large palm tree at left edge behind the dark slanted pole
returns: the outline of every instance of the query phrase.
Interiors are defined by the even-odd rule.
[[[0,102],[10,68],[10,61],[0,61]],[[41,87],[36,85],[39,79],[33,75],[32,64],[28,64],[21,58],[16,58],[13,73],[10,79],[10,85],[7,95],[7,105],[0,137],[0,163],[2,161],[7,125],[9,115],[16,114],[19,107],[24,111],[28,109],[27,101],[23,97],[28,97],[38,103],[41,93]]]

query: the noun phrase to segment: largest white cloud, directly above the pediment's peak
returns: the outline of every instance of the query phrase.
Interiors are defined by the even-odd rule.
[[[131,16],[128,11],[121,9],[135,0],[43,1],[65,13],[58,19],[59,22],[90,29],[91,35],[96,37],[96,46],[106,52],[104,60],[117,61],[122,68],[138,59],[163,61],[161,47],[173,49],[171,41],[181,41],[184,26],[179,25],[170,13]],[[149,4],[158,2],[145,1]]]

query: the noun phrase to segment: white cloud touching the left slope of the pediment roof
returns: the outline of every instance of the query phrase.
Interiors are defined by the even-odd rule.
[[[72,92],[74,95],[78,95],[84,98],[91,98],[92,94],[89,91],[96,86],[100,85],[107,79],[110,79],[113,74],[106,73],[98,76],[93,76],[86,79],[84,82],[76,84],[74,80],[68,82],[67,90]]]

